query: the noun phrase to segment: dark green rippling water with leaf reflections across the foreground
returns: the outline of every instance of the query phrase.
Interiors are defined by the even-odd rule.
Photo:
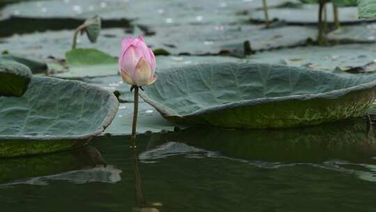
[[[149,211],[376,211],[375,130],[355,120],[296,130],[142,135],[136,163],[142,205],[154,208]],[[0,160],[0,209],[136,211],[134,165],[129,137]]]

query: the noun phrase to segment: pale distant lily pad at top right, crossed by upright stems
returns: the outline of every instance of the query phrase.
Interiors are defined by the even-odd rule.
[[[334,22],[334,15],[331,12],[331,4],[327,3],[327,22]],[[251,13],[251,20],[263,21],[265,18],[263,11]],[[269,10],[269,18],[281,20],[290,24],[316,24],[318,22],[318,5],[306,4],[302,8],[278,8]],[[340,8],[339,20],[341,23],[361,22],[358,19],[357,8]]]

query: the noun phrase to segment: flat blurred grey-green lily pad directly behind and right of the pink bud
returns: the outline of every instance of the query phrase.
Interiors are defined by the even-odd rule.
[[[185,31],[185,33],[177,33]],[[291,32],[294,33],[291,33]],[[164,49],[171,54],[230,54],[244,56],[244,42],[249,41],[251,50],[271,50],[292,47],[315,38],[312,27],[279,27],[232,24],[226,26],[175,26],[159,27],[155,36],[147,37],[146,43],[153,48]],[[199,36],[198,36],[199,35]],[[189,43],[181,40],[190,40]]]

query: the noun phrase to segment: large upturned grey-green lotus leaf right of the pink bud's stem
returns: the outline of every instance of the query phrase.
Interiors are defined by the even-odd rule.
[[[166,119],[226,128],[288,128],[363,116],[376,75],[215,63],[171,68],[141,96]]]

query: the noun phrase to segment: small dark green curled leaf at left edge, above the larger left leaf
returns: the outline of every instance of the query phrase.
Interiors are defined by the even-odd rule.
[[[0,61],[1,96],[22,96],[29,86],[31,70],[15,61]]]

